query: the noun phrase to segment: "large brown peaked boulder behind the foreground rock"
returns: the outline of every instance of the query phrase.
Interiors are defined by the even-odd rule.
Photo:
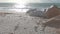
[[[52,18],[52,17],[60,15],[60,9],[56,7],[55,5],[52,5],[45,12],[46,12],[47,18]]]

